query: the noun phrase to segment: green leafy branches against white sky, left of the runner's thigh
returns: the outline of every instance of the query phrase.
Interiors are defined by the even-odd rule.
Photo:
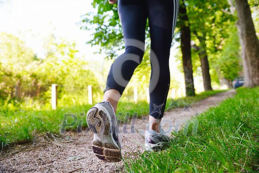
[[[118,50],[124,48],[122,27],[120,26],[117,3],[109,4],[107,0],[93,0],[92,5],[98,12],[88,12],[82,15],[80,29],[94,31],[92,38],[87,41],[92,46],[98,45],[99,52],[112,59]]]

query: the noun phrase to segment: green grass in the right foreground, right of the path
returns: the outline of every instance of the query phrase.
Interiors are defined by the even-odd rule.
[[[237,94],[189,121],[164,151],[126,159],[130,173],[259,172],[259,87]],[[193,130],[193,127],[196,130]]]

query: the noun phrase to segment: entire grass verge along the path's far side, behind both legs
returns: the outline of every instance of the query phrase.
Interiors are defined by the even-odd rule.
[[[186,97],[177,100],[179,106],[183,103],[189,104],[194,101],[206,98],[221,91],[206,91],[195,97]],[[169,99],[167,109],[170,104],[176,102]],[[55,111],[41,109],[30,110],[9,104],[8,108],[0,107],[0,146],[12,143],[25,143],[32,141],[39,134],[55,133],[60,130],[81,130],[87,127],[86,111],[92,105],[73,106],[68,108],[58,108]],[[138,103],[118,104],[117,117],[120,122],[129,120],[136,115],[148,115],[149,104],[145,101]]]

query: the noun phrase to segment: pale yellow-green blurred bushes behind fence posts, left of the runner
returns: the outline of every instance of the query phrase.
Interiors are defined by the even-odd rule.
[[[89,85],[99,101],[100,84],[88,62],[79,57],[75,43],[50,36],[44,58],[38,58],[19,38],[0,34],[0,99],[8,108],[50,108],[51,85],[58,84],[60,106],[88,103]]]

